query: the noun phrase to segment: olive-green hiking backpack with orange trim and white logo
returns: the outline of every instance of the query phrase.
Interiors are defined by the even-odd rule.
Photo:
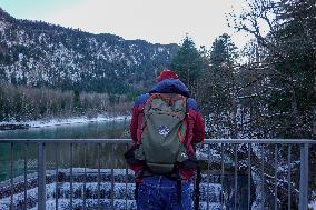
[[[144,108],[142,134],[135,158],[151,173],[175,172],[188,159],[186,150],[187,99],[176,93],[154,93]]]

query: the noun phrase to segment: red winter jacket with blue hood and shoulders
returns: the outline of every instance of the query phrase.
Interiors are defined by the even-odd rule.
[[[203,116],[198,109],[197,102],[189,97],[189,91],[185,84],[178,79],[165,79],[157,83],[149,93],[141,94],[135,102],[130,121],[130,137],[135,143],[140,141],[141,138],[141,124],[142,124],[142,110],[146,101],[149,99],[150,93],[179,93],[187,97],[188,118],[187,124],[187,152],[188,154],[195,154],[195,143],[204,141],[205,138],[205,124]],[[130,166],[134,171],[138,171],[142,168],[139,166]],[[179,169],[180,174],[189,180],[194,177],[194,170]]]

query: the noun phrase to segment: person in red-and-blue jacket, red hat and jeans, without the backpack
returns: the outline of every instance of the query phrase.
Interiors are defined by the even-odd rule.
[[[187,153],[195,157],[195,143],[204,141],[205,138],[205,123],[197,102],[190,98],[189,90],[178,79],[178,76],[171,70],[164,70],[157,77],[157,84],[149,91],[149,93],[141,94],[135,102],[130,122],[130,137],[134,144],[140,142],[141,138],[141,124],[142,124],[142,110],[154,93],[177,93],[187,98],[187,118],[186,122],[186,138],[187,138]],[[189,210],[191,209],[190,188],[192,177],[195,176],[195,169],[187,169],[179,167],[179,174],[182,179],[181,186],[181,202],[177,202],[177,199],[172,200],[177,196],[176,182],[166,179],[161,176],[144,177],[144,164],[134,162],[130,168],[136,174],[136,201],[138,209],[177,209]],[[170,189],[169,189],[170,188]],[[166,192],[164,190],[168,189]]]

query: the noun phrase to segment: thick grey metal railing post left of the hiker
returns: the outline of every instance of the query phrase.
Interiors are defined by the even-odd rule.
[[[38,143],[38,209],[46,209],[46,146]]]

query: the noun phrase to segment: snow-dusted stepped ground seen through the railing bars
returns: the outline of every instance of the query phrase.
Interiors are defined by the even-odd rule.
[[[70,209],[70,193],[72,192],[73,200],[72,207],[73,209],[82,209],[83,206],[83,194],[86,194],[86,204],[88,209],[98,209],[98,189],[100,190],[100,207],[101,209],[112,209],[111,201],[113,201],[113,209],[136,209],[136,202],[134,198],[134,189],[135,183],[132,180],[132,171],[126,169],[102,169],[100,173],[102,174],[102,181],[100,183],[96,182],[97,178],[97,169],[86,169],[87,174],[87,182],[68,182],[66,179],[65,181],[58,182],[58,193],[56,193],[57,183],[50,182],[46,184],[46,209],[53,210],[56,206],[58,209]],[[69,176],[69,170],[60,170]],[[48,171],[48,173],[53,171]],[[82,168],[73,168],[73,173],[76,176],[82,176],[85,169]],[[111,174],[115,177],[115,182],[111,182]],[[128,174],[128,179],[126,179],[126,174]],[[93,178],[95,179],[91,179]],[[204,174],[206,177],[206,174]],[[78,177],[77,177],[78,178]],[[31,179],[31,178],[30,178]],[[33,177],[32,179],[36,179]],[[55,178],[52,178],[55,179]],[[78,179],[77,179],[78,180]],[[30,181],[30,180],[29,180]],[[112,186],[113,184],[113,186]],[[86,187],[86,189],[85,189]],[[4,187],[9,188],[9,186]],[[190,186],[191,190],[194,184]],[[113,189],[113,191],[111,191]],[[86,193],[85,193],[86,190]],[[0,188],[1,191],[1,188]],[[71,192],[70,192],[71,191]],[[209,191],[209,193],[207,193]],[[207,209],[208,210],[220,210],[220,191],[221,186],[219,183],[200,183],[200,210]],[[113,193],[111,193],[113,192]],[[56,194],[58,196],[58,203],[56,202]],[[209,194],[209,203],[206,202],[207,194]],[[38,188],[33,186],[27,190],[27,200],[28,200],[28,209],[36,210],[37,207],[37,199],[38,199]],[[112,200],[111,200],[112,199]],[[0,199],[0,210],[9,210],[10,209],[11,197],[10,194],[4,196]],[[24,204],[24,192],[20,190],[18,193],[13,194],[13,209],[22,209]]]

